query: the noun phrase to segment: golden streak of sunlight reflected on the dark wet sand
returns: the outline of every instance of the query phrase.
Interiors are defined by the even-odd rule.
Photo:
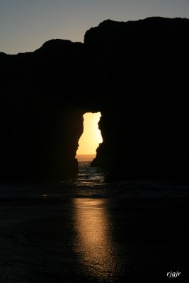
[[[119,261],[105,202],[74,199],[75,247],[85,274],[110,282],[118,272]]]

